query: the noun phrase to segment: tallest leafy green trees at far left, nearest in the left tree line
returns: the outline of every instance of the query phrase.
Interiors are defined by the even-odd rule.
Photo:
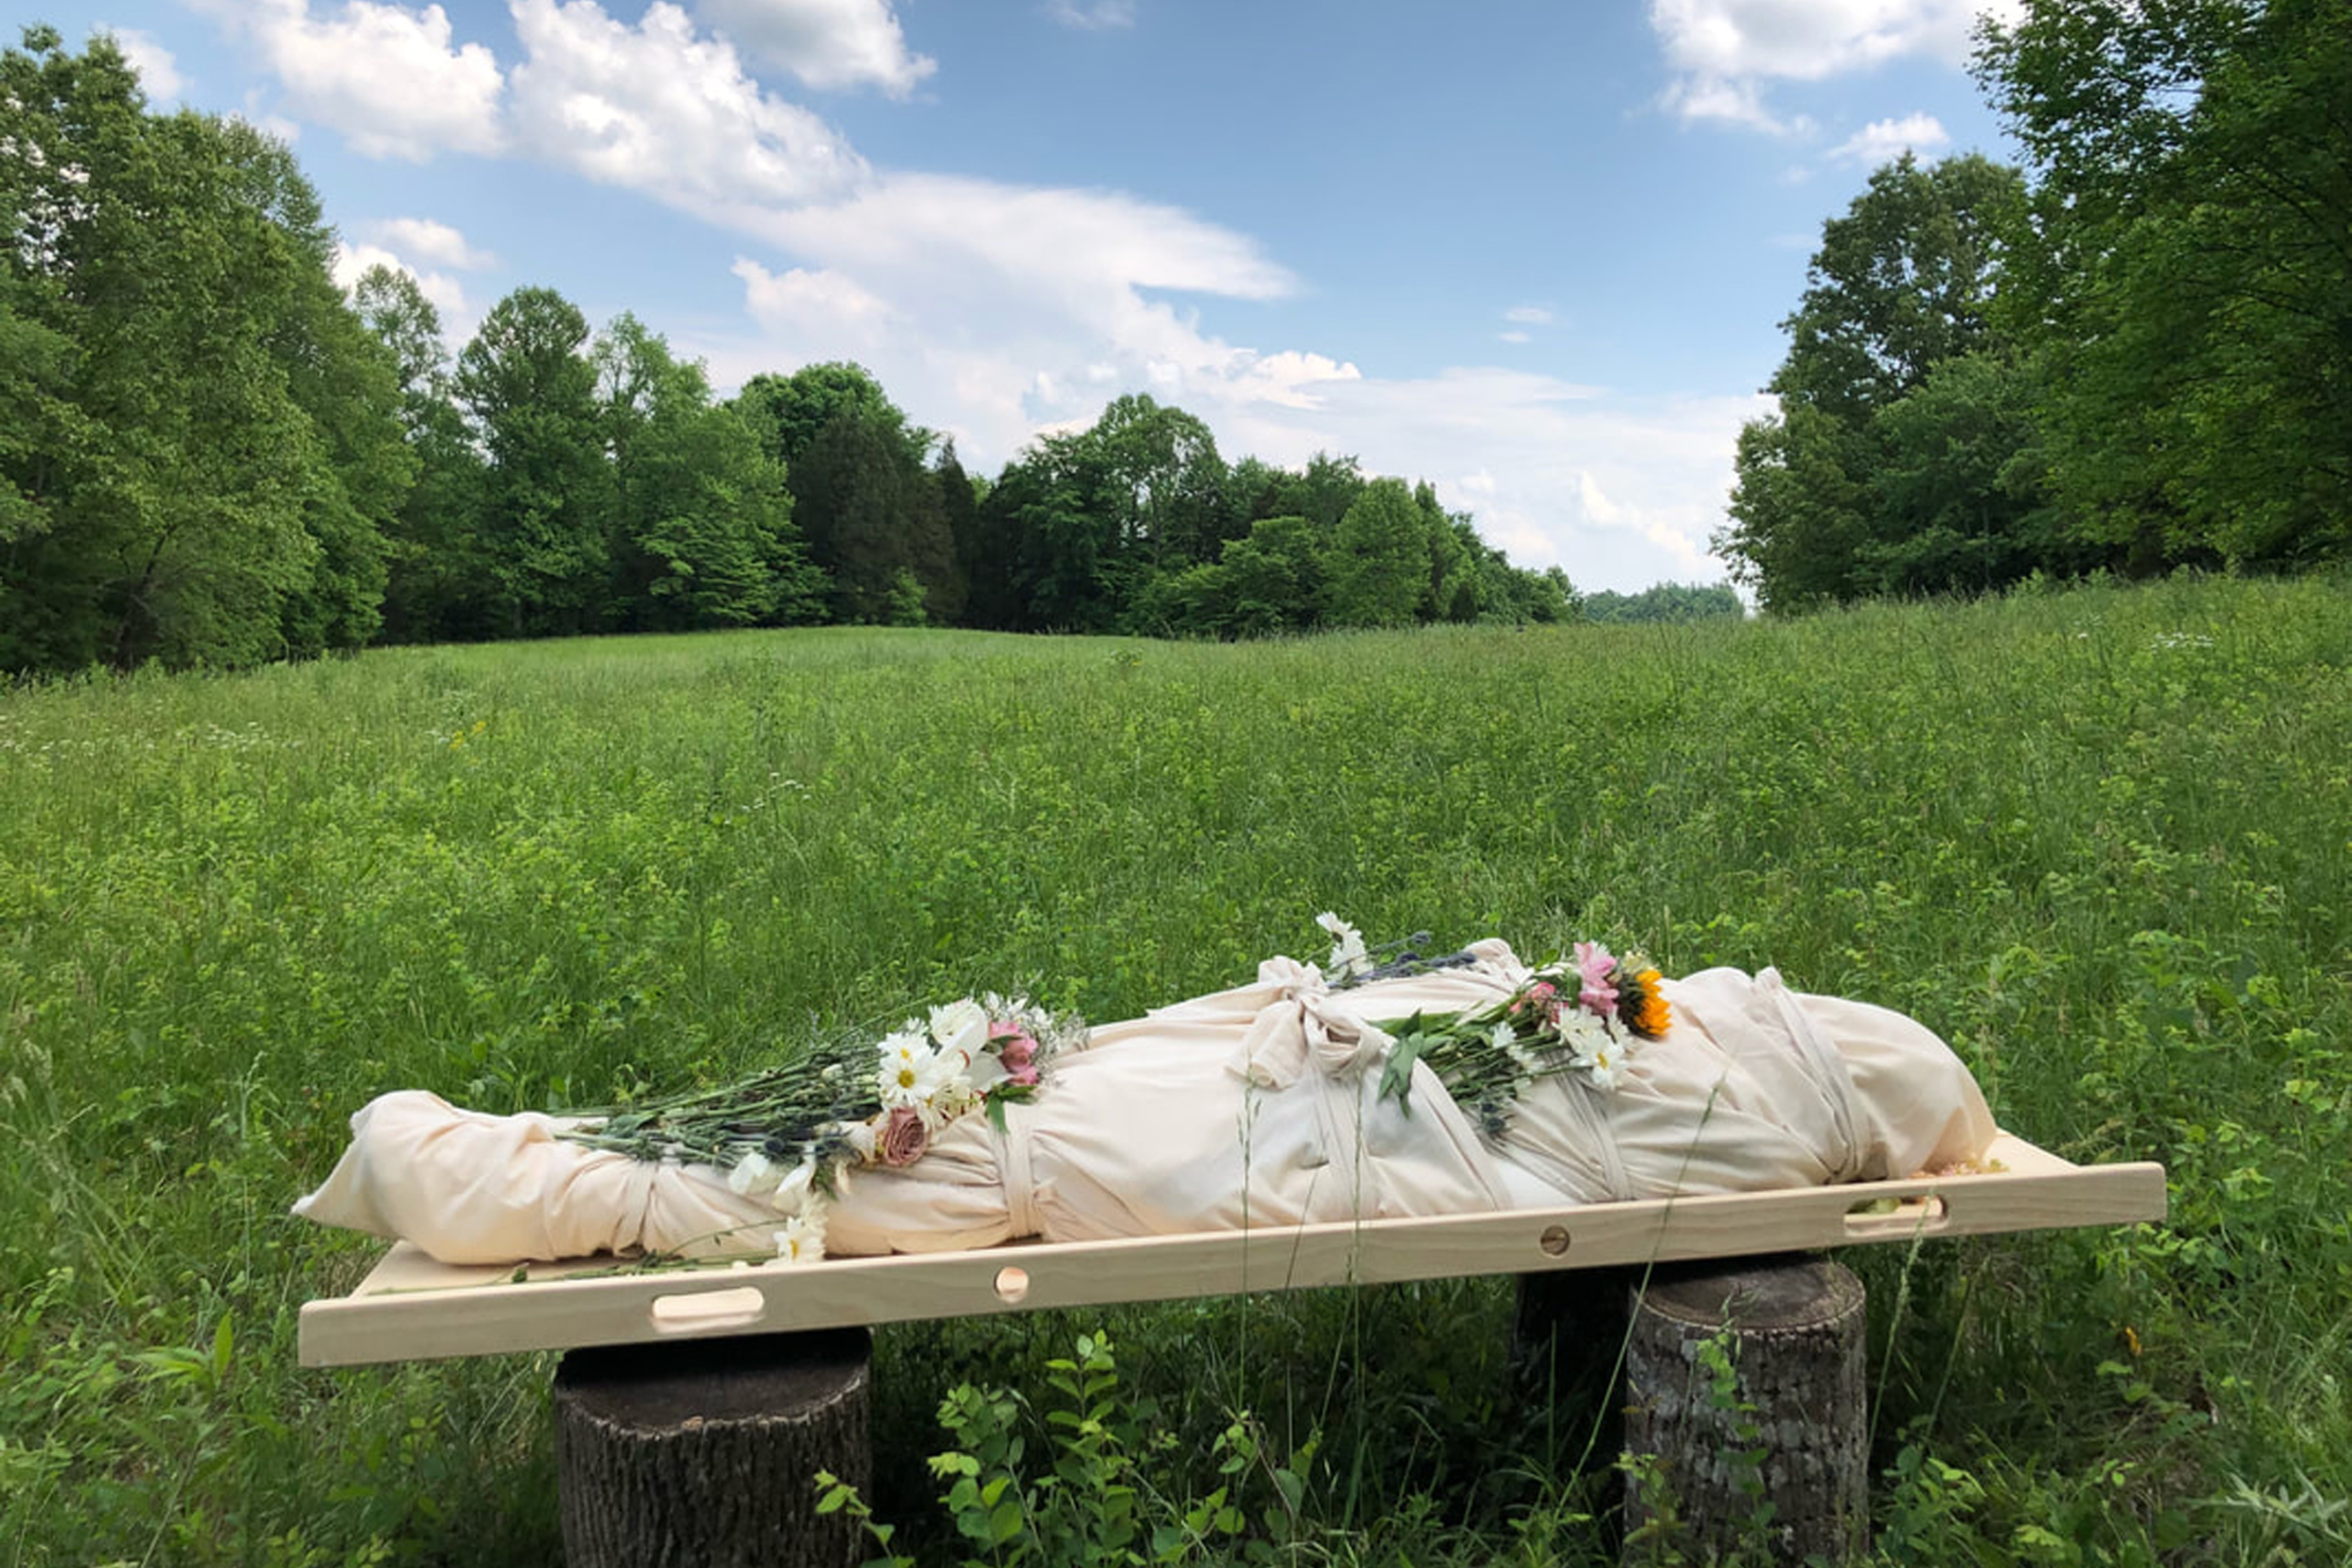
[[[292,155],[45,28],[0,54],[0,670],[372,637],[412,465]]]

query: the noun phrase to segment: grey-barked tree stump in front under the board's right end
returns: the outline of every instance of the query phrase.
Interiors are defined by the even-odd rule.
[[[1661,1269],[1635,1302],[1625,1382],[1628,1561],[1658,1535],[1715,1552],[1745,1542],[1783,1563],[1867,1549],[1851,1272],[1802,1258]]]

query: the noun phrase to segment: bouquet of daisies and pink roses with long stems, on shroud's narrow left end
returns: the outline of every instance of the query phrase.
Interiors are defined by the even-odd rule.
[[[736,1084],[590,1112],[562,1133],[633,1159],[703,1164],[783,1215],[776,1255],[826,1255],[826,1204],[854,1166],[910,1166],[957,1117],[1037,1093],[1087,1025],[1028,997],[962,997],[882,1041],[833,1041]]]

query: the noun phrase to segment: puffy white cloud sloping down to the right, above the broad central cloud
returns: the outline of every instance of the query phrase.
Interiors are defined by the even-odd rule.
[[[527,54],[515,139],[548,162],[701,216],[828,200],[866,179],[833,127],[762,92],[734,45],[699,38],[666,0],[635,28],[595,0],[513,0],[513,14]]]

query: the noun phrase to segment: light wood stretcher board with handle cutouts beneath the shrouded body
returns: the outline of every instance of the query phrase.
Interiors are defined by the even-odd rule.
[[[800,1265],[619,1272],[612,1258],[586,1258],[517,1269],[435,1262],[400,1241],[358,1291],[301,1309],[301,1361],[487,1356],[2164,1218],[2157,1164],[2074,1166],[2002,1133],[1987,1166],[1844,1187]]]

